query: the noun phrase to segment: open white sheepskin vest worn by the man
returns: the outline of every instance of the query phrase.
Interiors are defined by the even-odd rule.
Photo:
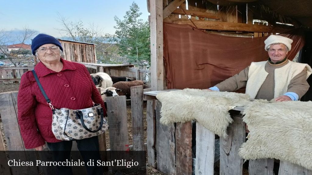
[[[261,85],[266,80],[268,73],[265,70],[268,61],[252,62],[249,66],[248,81],[246,85],[246,94],[255,98]],[[288,63],[274,71],[274,98],[287,92],[290,80],[298,75],[303,69],[307,69],[307,77],[311,75],[312,69],[308,64],[295,63],[288,60]],[[288,73],[288,74],[287,74]],[[278,77],[278,78],[276,78]],[[286,83],[285,83],[286,82]]]

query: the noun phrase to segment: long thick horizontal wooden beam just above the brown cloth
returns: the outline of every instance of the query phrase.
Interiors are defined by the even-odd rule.
[[[171,22],[174,24],[188,24],[198,29],[206,30],[222,30],[222,31],[250,31],[250,32],[268,32],[268,33],[284,33],[291,29],[283,29],[280,27],[262,26],[253,24],[243,23],[232,23],[232,22],[219,22],[219,21],[200,21],[200,20],[189,20],[189,19],[170,19],[166,18],[164,22]]]

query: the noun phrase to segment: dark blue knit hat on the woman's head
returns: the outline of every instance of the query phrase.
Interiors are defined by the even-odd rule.
[[[34,39],[32,39],[32,54],[36,54],[36,50],[41,46],[45,44],[54,44],[57,45],[62,51],[63,48],[61,46],[60,41],[56,40],[53,36],[46,35],[46,34],[39,34]]]

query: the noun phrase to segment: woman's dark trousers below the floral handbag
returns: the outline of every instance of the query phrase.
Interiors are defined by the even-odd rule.
[[[47,147],[50,151],[53,151],[55,162],[64,162],[66,159],[71,160],[71,147],[73,141],[61,141],[56,143],[47,143]],[[88,175],[102,175],[102,167],[99,166],[87,166],[87,162],[90,159],[100,160],[99,142],[98,137],[91,137],[82,140],[76,140],[77,147],[85,162]],[[96,164],[96,163],[95,163]],[[70,166],[57,166],[56,172],[58,175],[72,175],[73,172]]]

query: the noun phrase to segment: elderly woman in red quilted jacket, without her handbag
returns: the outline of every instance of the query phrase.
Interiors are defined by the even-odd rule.
[[[34,69],[55,108],[84,109],[95,102],[101,104],[106,115],[104,103],[88,70],[82,64],[62,59],[63,48],[56,38],[39,34],[32,40],[31,48],[32,54],[40,60]],[[49,150],[54,151],[57,161],[70,160],[72,141],[57,140],[53,135],[51,108],[31,71],[24,73],[21,78],[17,104],[25,148],[43,150],[47,145]],[[84,160],[94,159],[91,153],[84,151],[98,152],[97,136],[76,142]],[[88,174],[101,174],[97,167],[87,167],[87,171]],[[71,174],[71,167],[63,167],[59,172]]]

